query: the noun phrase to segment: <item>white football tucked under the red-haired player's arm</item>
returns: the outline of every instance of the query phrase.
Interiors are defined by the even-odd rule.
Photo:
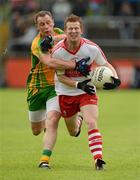
[[[111,78],[113,72],[106,66],[100,66],[90,72],[91,84],[95,85],[98,89],[103,89],[103,85],[108,82],[112,83]]]

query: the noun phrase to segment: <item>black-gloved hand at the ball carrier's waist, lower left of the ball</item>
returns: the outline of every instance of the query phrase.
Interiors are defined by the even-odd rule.
[[[82,89],[83,91],[85,91],[89,95],[92,95],[92,94],[95,94],[95,88],[94,88],[94,86],[91,86],[88,84],[89,81],[91,81],[91,79],[87,79],[85,81],[78,82],[77,88]]]

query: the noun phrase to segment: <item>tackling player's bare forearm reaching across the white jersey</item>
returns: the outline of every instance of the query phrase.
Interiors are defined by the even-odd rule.
[[[75,60],[64,61],[52,58],[50,53],[40,54],[40,61],[53,69],[74,69],[76,65]]]

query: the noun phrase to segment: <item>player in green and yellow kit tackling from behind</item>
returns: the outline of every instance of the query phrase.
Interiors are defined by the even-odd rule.
[[[34,21],[39,33],[31,45],[31,70],[27,79],[27,102],[33,134],[38,135],[43,129],[46,129],[39,167],[49,168],[48,162],[56,142],[57,127],[61,116],[54,88],[55,68],[75,68],[83,73],[88,73],[88,66],[85,59],[76,63],[75,60],[65,62],[61,59],[51,58],[53,43],[56,44],[63,39],[64,32],[59,28],[54,28],[53,17],[48,11],[39,11],[35,15]]]

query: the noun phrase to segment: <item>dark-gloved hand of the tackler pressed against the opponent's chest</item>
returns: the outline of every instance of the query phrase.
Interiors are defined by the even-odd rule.
[[[90,71],[90,66],[87,64],[87,62],[89,60],[90,57],[87,57],[76,62],[75,70],[79,71],[84,76],[88,76]]]

